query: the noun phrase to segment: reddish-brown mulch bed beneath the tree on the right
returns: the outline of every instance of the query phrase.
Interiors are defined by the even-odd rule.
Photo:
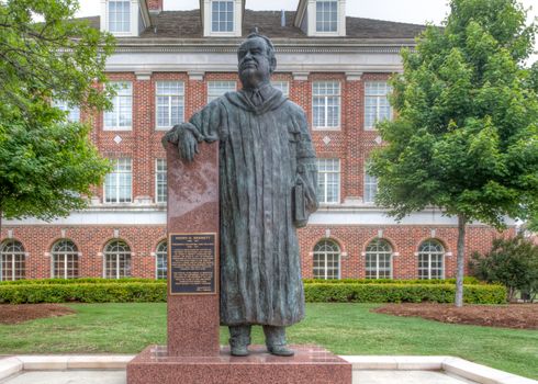
[[[452,304],[388,304],[372,310],[450,324],[538,329],[538,304],[464,305],[461,308]]]

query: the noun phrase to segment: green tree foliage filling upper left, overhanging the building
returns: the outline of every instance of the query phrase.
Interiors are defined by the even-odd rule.
[[[74,21],[77,10],[77,0],[0,0],[0,218],[82,208],[109,169],[90,128],[52,103],[110,106],[97,83],[113,38]]]

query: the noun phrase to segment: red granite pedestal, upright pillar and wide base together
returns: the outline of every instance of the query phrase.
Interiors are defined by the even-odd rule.
[[[351,384],[351,364],[318,347],[292,346],[295,355],[282,358],[254,346],[250,355],[234,358],[218,346],[218,143],[202,143],[191,163],[181,161],[170,145],[167,160],[168,346],[148,347],[130,362],[127,384]],[[183,284],[190,278],[181,280],[180,264],[189,259],[187,268],[195,270],[200,255],[183,255],[181,247],[200,249],[197,239],[205,237],[216,250],[212,283],[191,279],[200,285]]]

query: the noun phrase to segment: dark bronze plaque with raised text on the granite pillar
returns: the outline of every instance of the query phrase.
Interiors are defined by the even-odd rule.
[[[170,295],[216,293],[216,234],[170,234],[168,286]]]

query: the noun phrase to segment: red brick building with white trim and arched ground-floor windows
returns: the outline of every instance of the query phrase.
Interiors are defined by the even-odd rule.
[[[301,0],[296,12],[255,12],[245,0],[201,0],[193,11],[162,10],[162,0],[101,5],[88,20],[117,36],[108,72],[121,90],[112,112],[70,110],[69,118],[92,124],[91,139],[114,171],[83,212],[53,223],[7,221],[1,280],[166,276],[160,138],[240,86],[236,49],[255,26],[277,47],[273,84],[306,111],[320,158],[321,208],[300,230],[303,275],[455,275],[456,219],[428,210],[395,223],[373,204],[377,181],[365,167],[381,144],[376,121],[393,115],[386,80],[402,70],[399,53],[423,26],[346,18],[345,0]],[[495,236],[470,225],[468,253],[487,250]]]

